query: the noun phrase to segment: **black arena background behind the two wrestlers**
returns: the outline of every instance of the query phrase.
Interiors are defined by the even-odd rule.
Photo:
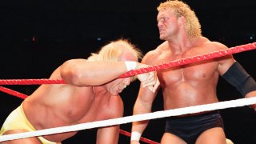
[[[158,0],[62,0],[0,2],[0,79],[49,78],[51,72],[70,58],[86,58],[101,46],[118,38],[129,38],[144,54],[162,41],[158,39]],[[202,34],[228,47],[255,42],[254,0],[184,1],[198,15]],[[234,54],[253,78],[255,51]],[[6,86],[31,94],[38,86]],[[202,87],[203,89],[203,87]],[[132,114],[138,82],[122,92],[125,116]],[[233,86],[220,78],[220,101],[242,98]],[[22,99],[1,92],[0,124]],[[153,111],[162,110],[162,95]],[[40,112],[38,112],[40,114]],[[221,110],[226,137],[236,144],[256,143],[256,115],[248,106]],[[143,137],[160,142],[165,118],[150,121]],[[130,123],[121,125],[130,131]],[[95,129],[81,130],[62,143],[95,143]],[[119,143],[130,138],[120,134]],[[107,142],[106,142],[107,143]]]

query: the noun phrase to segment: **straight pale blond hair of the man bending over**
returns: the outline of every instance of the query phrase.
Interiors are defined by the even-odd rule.
[[[117,41],[110,42],[106,46],[102,46],[102,48],[97,53],[91,53],[87,60],[118,62],[119,57],[122,54],[120,45],[130,49],[134,53],[134,56],[137,58],[137,62],[142,58],[142,51],[139,50],[136,46],[130,43],[127,39],[118,39]]]

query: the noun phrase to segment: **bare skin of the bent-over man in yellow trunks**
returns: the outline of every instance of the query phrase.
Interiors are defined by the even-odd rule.
[[[115,44],[114,46],[117,46],[114,49],[122,50],[118,55],[118,62],[68,60],[54,70],[50,76],[50,79],[63,79],[66,84],[39,86],[22,102],[24,114],[36,130],[122,117],[123,102],[119,93],[131,82],[131,78],[118,78],[127,72],[124,61],[134,61],[138,68],[147,65],[138,63],[135,52],[127,48],[127,45]],[[147,89],[154,92],[159,86],[156,72],[145,73],[142,76],[143,80],[139,75],[138,79]],[[15,127],[15,130],[7,130],[4,134],[26,131]],[[74,131],[50,134],[43,138],[51,142],[62,142],[76,133]],[[97,131],[96,142],[117,144],[118,136],[119,126],[100,127]],[[41,142],[38,138],[24,138],[3,142],[3,144],[6,143],[35,144]]]

